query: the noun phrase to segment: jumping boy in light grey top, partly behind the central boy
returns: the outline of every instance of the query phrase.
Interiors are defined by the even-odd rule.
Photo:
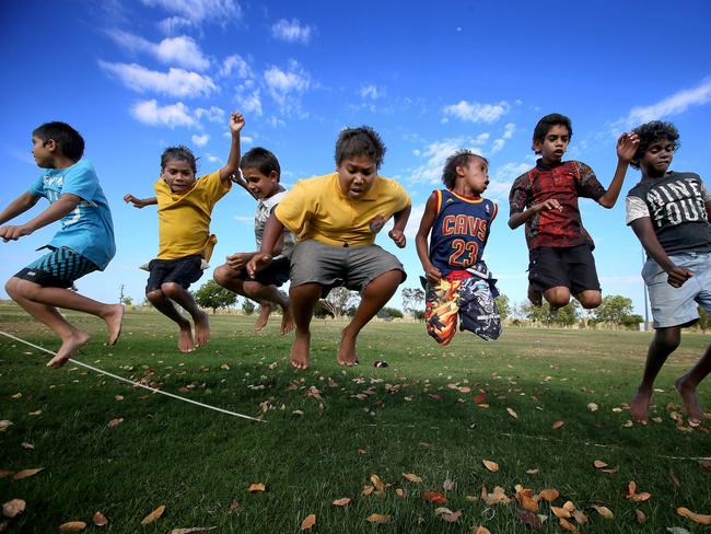
[[[279,183],[281,167],[275,154],[267,149],[255,147],[242,156],[240,169],[242,176],[238,176],[235,183],[247,189],[257,200],[254,233],[259,249],[265,224],[285,195],[285,189]],[[228,256],[228,263],[214,269],[212,276],[220,286],[259,302],[261,312],[255,323],[256,330],[267,325],[273,304],[281,306],[282,310],[281,334],[287,334],[294,328],[289,298],[277,289],[289,280],[289,256],[293,247],[294,235],[284,229],[277,243],[280,254],[268,267],[258,271],[254,280],[249,278],[245,267],[247,262],[257,254],[256,252],[241,252]]]

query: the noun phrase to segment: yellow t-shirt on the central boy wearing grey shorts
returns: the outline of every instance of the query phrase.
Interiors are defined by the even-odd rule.
[[[338,173],[300,179],[281,199],[275,214],[299,241],[327,245],[371,245],[375,233],[370,222],[385,220],[410,206],[410,196],[394,179],[377,176],[363,198],[350,199],[338,184]]]

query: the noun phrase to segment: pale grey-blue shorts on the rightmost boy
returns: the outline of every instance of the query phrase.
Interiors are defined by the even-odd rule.
[[[697,304],[711,313],[711,253],[679,253],[669,255],[678,267],[693,276],[680,288],[668,285],[668,275],[654,259],[648,259],[642,278],[650,292],[654,328],[684,326],[699,318]]]

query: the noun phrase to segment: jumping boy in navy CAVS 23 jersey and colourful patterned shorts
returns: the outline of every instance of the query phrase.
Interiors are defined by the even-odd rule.
[[[494,280],[481,259],[498,206],[481,198],[489,185],[489,162],[462,150],[447,158],[442,172],[446,189],[435,190],[417,232],[417,254],[426,279],[427,330],[447,345],[457,327],[482,339],[501,335]],[[431,241],[428,249],[428,235]]]

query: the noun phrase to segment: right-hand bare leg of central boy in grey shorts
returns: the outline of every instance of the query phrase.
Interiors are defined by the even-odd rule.
[[[336,356],[336,361],[340,365],[351,367],[358,363],[356,355],[358,334],[391,300],[401,281],[403,272],[395,269],[383,272],[365,286],[356,315],[340,335],[340,347]]]

